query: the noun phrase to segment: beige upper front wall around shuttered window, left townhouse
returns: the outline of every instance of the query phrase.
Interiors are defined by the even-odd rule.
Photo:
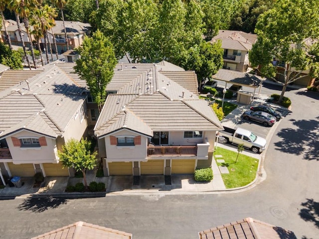
[[[42,137],[43,135],[33,133],[27,130],[17,132],[12,137]],[[47,146],[36,148],[21,148],[13,146],[11,137],[6,138],[8,148],[11,152],[12,162],[17,163],[53,163],[56,162],[54,149],[56,149],[55,139],[45,137]]]

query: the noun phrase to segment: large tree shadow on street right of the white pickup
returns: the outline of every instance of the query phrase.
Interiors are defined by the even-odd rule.
[[[306,160],[319,160],[319,117],[311,120],[294,120],[297,128],[283,128],[277,133],[281,141],[276,142],[277,150],[302,155]]]

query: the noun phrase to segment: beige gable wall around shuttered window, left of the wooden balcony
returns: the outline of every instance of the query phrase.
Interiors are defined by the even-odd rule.
[[[112,134],[112,136],[121,135],[132,135],[133,137],[139,136],[140,134],[130,130],[119,130]],[[110,136],[105,139],[105,148],[108,162],[119,162],[119,161],[147,161],[147,137],[141,135],[141,145],[135,146],[117,146],[111,145]]]

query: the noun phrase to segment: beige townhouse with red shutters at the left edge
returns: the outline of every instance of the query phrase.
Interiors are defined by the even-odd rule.
[[[2,80],[10,77],[14,82],[21,72],[5,71],[0,85],[8,84]],[[73,175],[71,169],[62,168],[57,150],[70,138],[81,139],[87,132],[86,95],[80,84],[55,64],[31,72],[37,74],[0,91],[2,182],[5,176],[33,176],[36,172]]]

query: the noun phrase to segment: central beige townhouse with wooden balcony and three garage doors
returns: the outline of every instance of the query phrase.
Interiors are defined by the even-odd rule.
[[[118,64],[94,128],[104,175],[188,174],[211,166],[220,121],[193,71]]]

